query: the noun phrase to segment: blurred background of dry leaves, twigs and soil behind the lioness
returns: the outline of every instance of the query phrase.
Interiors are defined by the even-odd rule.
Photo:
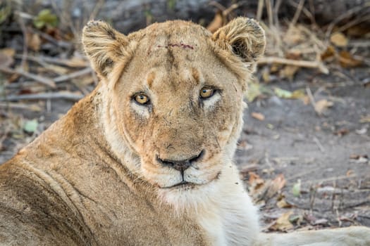
[[[97,85],[88,20],[214,32],[239,15],[267,36],[235,155],[264,231],[370,226],[369,0],[1,0],[0,163]]]

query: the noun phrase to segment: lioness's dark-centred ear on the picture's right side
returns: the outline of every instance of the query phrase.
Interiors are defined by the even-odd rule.
[[[218,29],[212,39],[223,49],[228,49],[243,62],[253,63],[264,55],[265,32],[257,21],[239,17]]]

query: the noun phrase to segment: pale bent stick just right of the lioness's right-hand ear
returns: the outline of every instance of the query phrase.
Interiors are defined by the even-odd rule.
[[[295,65],[297,67],[309,67],[309,68],[317,68],[323,74],[328,74],[328,68],[318,61],[311,61],[311,60],[291,60],[286,58],[280,57],[263,57],[258,60],[257,62],[259,65],[269,64],[269,63],[278,63],[284,65]]]

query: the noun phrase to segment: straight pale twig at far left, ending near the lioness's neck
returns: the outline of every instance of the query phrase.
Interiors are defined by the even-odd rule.
[[[81,95],[80,93],[46,92],[18,96],[7,96],[6,98],[0,98],[0,101],[46,100],[46,99],[66,99],[70,101],[79,101],[81,98],[83,98],[83,95]]]

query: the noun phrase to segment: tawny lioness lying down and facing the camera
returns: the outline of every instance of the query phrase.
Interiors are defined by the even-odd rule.
[[[89,22],[101,82],[0,166],[1,245],[370,245],[364,227],[259,233],[232,159],[265,42],[248,18]]]

